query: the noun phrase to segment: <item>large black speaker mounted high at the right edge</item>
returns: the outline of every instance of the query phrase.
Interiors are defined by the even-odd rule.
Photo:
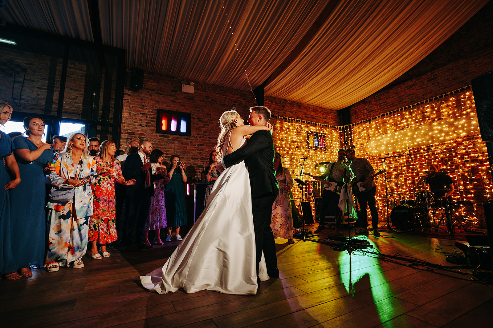
[[[481,140],[493,142],[493,71],[471,81]]]

